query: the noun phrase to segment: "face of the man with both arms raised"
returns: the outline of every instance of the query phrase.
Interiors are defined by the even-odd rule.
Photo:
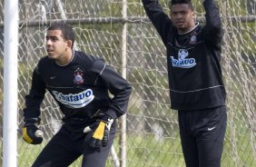
[[[190,31],[194,25],[194,12],[187,4],[172,5],[171,19],[172,24],[178,29],[179,33]]]

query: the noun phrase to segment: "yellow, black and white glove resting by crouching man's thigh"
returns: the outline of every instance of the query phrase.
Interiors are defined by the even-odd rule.
[[[90,141],[90,146],[93,148],[100,148],[107,146],[109,139],[109,132],[111,125],[113,123],[113,118],[107,118],[97,121],[96,123],[86,126],[84,128],[84,133],[92,132],[93,136]]]

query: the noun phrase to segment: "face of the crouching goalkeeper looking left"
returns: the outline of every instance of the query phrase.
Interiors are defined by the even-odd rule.
[[[64,40],[61,30],[48,30],[46,34],[46,51],[48,57],[56,61],[65,59],[70,41]]]

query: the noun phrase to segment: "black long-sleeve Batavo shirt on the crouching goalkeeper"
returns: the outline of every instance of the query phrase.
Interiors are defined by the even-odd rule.
[[[108,114],[114,119],[127,110],[131,85],[102,59],[74,51],[71,63],[59,66],[44,56],[34,69],[30,93],[25,96],[24,116],[40,116],[45,90],[64,113],[64,122],[84,122]],[[109,96],[113,94],[113,98]]]

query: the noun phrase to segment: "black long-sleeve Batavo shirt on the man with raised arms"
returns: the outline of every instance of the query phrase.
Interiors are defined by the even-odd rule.
[[[222,82],[222,23],[213,0],[205,0],[206,24],[178,34],[158,0],[143,0],[167,50],[172,109],[196,110],[225,105]]]

